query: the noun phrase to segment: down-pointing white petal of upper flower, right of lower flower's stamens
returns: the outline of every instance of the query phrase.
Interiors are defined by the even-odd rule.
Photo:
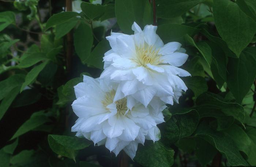
[[[157,90],[153,87],[147,87],[143,90],[139,90],[138,92],[132,94],[132,97],[141,102],[145,107],[149,104],[152,98],[157,93]]]

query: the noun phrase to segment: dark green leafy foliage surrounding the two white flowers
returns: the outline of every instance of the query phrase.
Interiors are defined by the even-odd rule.
[[[1,1],[0,166],[256,166],[256,1],[96,1],[80,12],[70,0]],[[154,16],[163,42],[186,49],[192,76],[163,111],[161,140],[132,161],[74,137],[73,87],[99,77],[111,31],[132,34]]]

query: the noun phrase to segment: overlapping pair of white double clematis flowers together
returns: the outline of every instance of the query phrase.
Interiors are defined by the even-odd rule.
[[[164,122],[165,104],[178,102],[187,90],[177,75],[190,74],[177,67],[188,58],[180,43],[164,45],[157,26],[142,31],[133,23],[132,30],[134,35],[106,37],[112,49],[103,57],[101,77],[84,75],[75,86],[72,108],[79,118],[72,131],[116,155],[123,149],[133,159],[138,143],[160,139],[157,124]]]

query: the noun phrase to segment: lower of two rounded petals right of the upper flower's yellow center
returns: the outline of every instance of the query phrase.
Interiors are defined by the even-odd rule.
[[[170,65],[179,67],[187,61],[188,55],[185,53],[174,52],[173,54],[163,55],[160,59],[163,63],[169,63]]]

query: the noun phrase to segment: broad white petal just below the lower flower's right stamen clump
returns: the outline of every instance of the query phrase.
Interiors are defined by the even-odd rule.
[[[138,136],[140,127],[131,119],[120,114],[120,119],[123,121],[124,131],[119,138],[124,141],[132,141]]]

